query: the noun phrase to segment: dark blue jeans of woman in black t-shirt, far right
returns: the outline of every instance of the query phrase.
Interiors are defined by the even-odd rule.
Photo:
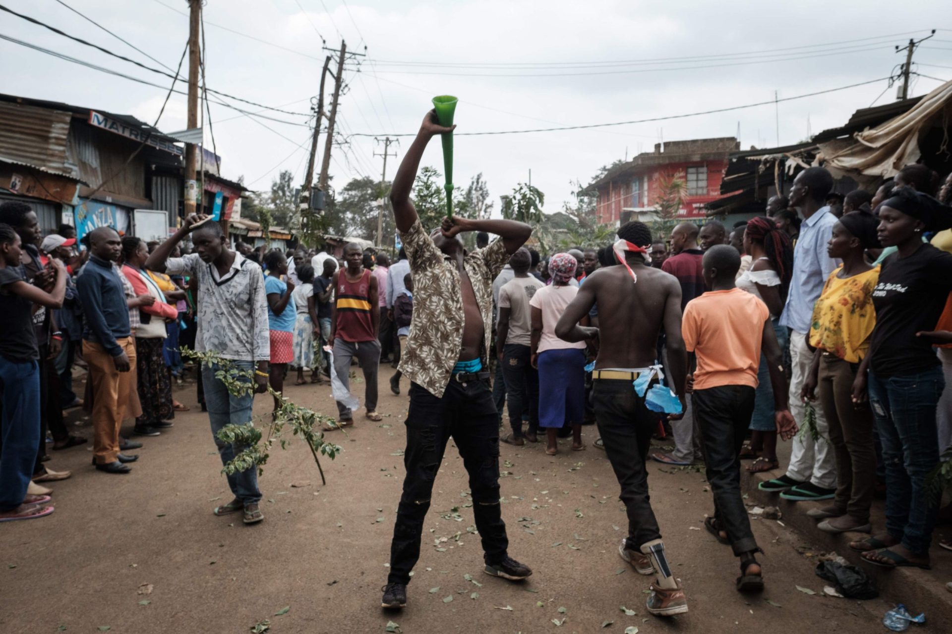
[[[886,532],[916,555],[929,551],[939,511],[925,480],[939,464],[936,404],[944,387],[938,367],[918,375],[869,373],[869,402],[886,468]]]

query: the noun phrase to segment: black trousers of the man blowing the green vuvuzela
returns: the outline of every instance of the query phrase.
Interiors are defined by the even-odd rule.
[[[442,398],[411,383],[409,394],[407,475],[393,527],[387,583],[408,584],[410,570],[420,559],[423,521],[450,436],[469,474],[473,516],[486,564],[500,563],[509,541],[499,502],[499,419],[487,382],[464,384],[450,379]]]

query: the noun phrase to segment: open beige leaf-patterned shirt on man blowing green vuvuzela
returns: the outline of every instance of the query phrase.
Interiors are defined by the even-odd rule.
[[[442,397],[463,351],[463,289],[456,262],[436,248],[419,220],[401,238],[413,276],[413,322],[400,371],[434,396]],[[483,356],[492,331],[492,280],[509,254],[503,240],[467,253],[463,260],[483,316]],[[484,363],[486,358],[483,359]]]

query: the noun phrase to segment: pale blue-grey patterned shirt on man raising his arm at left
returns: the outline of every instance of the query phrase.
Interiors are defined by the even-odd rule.
[[[197,352],[213,351],[223,358],[261,361],[271,357],[268,299],[261,267],[235,253],[224,276],[198,254],[169,258],[166,272],[198,278]],[[291,313],[293,315],[293,312]]]

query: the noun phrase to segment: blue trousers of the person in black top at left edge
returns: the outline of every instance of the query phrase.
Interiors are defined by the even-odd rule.
[[[0,356],[3,449],[0,450],[0,510],[23,504],[40,447],[40,366]]]

